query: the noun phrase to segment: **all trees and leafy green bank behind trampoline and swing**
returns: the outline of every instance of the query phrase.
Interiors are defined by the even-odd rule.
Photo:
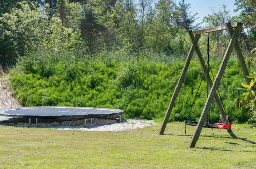
[[[244,2],[251,3],[237,1],[237,5],[245,19],[243,12],[250,10],[241,5]],[[162,118],[182,69],[180,61],[191,44],[187,30],[198,26],[193,24],[196,14],[188,11],[190,4],[185,1],[179,7],[172,0],[159,0],[153,6],[150,0],[134,3],[1,1],[5,8],[0,9],[0,64],[18,61],[12,76],[15,96],[23,105],[115,107],[124,109],[127,117]],[[205,21],[217,26],[229,18],[223,6]],[[227,37],[225,33],[210,34],[212,56],[221,57]],[[204,34],[199,41],[204,56],[206,39]],[[211,61],[216,74],[220,62]],[[192,62],[190,67],[170,121],[186,118],[199,86],[200,66]],[[231,120],[244,122],[246,109],[235,110],[233,101],[241,94],[235,90],[242,77],[237,67],[237,62],[229,63],[223,83],[230,92],[223,98],[228,100]],[[200,116],[206,86],[204,79],[191,119]],[[215,121],[217,111],[213,103],[211,117]]]

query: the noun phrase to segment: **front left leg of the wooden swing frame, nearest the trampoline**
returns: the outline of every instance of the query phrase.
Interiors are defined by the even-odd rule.
[[[167,109],[167,111],[166,111],[166,114],[165,114],[165,117],[164,117],[164,121],[163,121],[163,123],[162,123],[162,125],[161,125],[161,129],[160,129],[160,131],[159,131],[159,134],[164,134],[164,131],[165,131],[165,128],[166,128],[166,124],[167,124],[167,122],[168,122],[168,120],[169,120],[169,118],[170,118],[172,108],[174,107],[174,103],[175,103],[176,98],[177,98],[177,96],[178,96],[178,94],[179,94],[179,91],[180,91],[180,89],[181,89],[183,80],[184,80],[185,75],[186,75],[186,72],[187,72],[187,70],[188,70],[188,66],[189,66],[189,64],[190,64],[190,61],[191,61],[192,56],[193,56],[193,53],[194,53],[194,50],[195,50],[195,48],[196,48],[197,45],[198,45],[198,40],[199,40],[199,38],[200,38],[200,34],[196,34],[196,35],[195,35],[195,38],[194,38],[194,40],[193,40],[192,46],[191,46],[191,48],[190,48],[190,50],[189,50],[189,53],[188,53],[188,56],[187,56],[187,60],[186,60],[185,65],[184,65],[184,67],[183,67],[181,76],[180,76],[180,78],[179,78],[179,80],[178,80],[178,83],[177,83],[177,85],[176,85],[176,88],[175,88],[175,90],[174,90],[174,93],[173,93],[173,95],[172,95],[172,97],[171,97],[171,101],[170,101],[169,107],[168,107],[168,109]]]

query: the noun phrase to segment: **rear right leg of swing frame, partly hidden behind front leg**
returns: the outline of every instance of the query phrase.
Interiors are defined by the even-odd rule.
[[[242,23],[240,23],[240,24],[241,24],[241,27],[242,27]],[[228,30],[229,35],[232,37],[232,35],[234,33],[234,30],[232,28],[231,23],[230,22],[227,23],[226,26],[227,26],[227,30]],[[245,64],[245,61],[244,61],[244,57],[243,57],[243,54],[241,52],[241,48],[239,47],[238,43],[235,43],[234,50],[235,50],[235,54],[237,55],[240,67],[242,68],[242,72],[244,74],[244,78],[246,80],[246,83],[249,85],[250,82],[251,82],[251,79],[247,77],[247,76],[249,76],[249,71],[248,71],[248,69],[246,67],[246,64]],[[254,102],[254,105],[256,107],[256,102]]]

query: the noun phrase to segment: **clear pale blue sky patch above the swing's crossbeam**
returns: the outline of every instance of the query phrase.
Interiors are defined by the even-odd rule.
[[[177,4],[178,2],[179,0],[176,0]],[[198,15],[196,15],[197,17],[199,17],[199,19],[197,20],[198,23],[202,22],[204,16],[212,13],[210,9],[212,7],[219,9],[222,7],[222,5],[226,5],[227,10],[229,10],[229,14],[231,16],[236,15],[236,13],[234,13],[234,9],[236,8],[234,5],[235,0],[185,0],[185,3],[191,4],[191,14],[194,14],[196,12],[198,13]],[[201,26],[205,26],[205,24],[202,23]]]

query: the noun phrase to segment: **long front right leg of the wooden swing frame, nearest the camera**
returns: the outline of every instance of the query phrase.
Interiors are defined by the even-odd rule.
[[[200,116],[198,125],[196,125],[195,132],[194,132],[192,140],[191,140],[191,142],[189,144],[190,148],[195,147],[195,144],[198,141],[199,135],[200,135],[201,130],[203,128],[203,124],[204,124],[205,118],[207,116],[207,113],[209,112],[210,105],[212,103],[214,94],[216,93],[216,90],[217,90],[217,88],[219,86],[219,83],[221,81],[223,73],[224,73],[224,71],[226,69],[226,66],[227,66],[229,57],[230,57],[230,55],[232,53],[232,50],[234,48],[234,45],[238,41],[238,35],[240,33],[240,30],[241,30],[241,27],[238,27],[238,28],[235,29],[234,34],[233,34],[233,36],[232,36],[232,38],[231,38],[231,40],[229,42],[228,48],[227,48],[226,53],[224,55],[224,58],[223,58],[223,60],[221,62],[221,66],[220,66],[220,68],[218,70],[218,73],[217,73],[216,78],[215,78],[215,80],[213,82],[212,88],[211,88],[210,93],[208,95],[207,101],[205,103],[204,109],[203,109],[202,114]]]

